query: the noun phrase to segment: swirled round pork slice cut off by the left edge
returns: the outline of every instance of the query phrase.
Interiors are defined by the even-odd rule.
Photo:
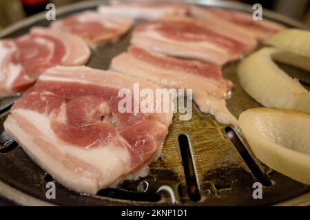
[[[48,28],[32,28],[17,39],[0,41],[0,96],[25,91],[45,69],[83,65],[90,58],[78,36]]]

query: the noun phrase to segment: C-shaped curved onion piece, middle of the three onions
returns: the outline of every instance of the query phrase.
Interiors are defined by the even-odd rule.
[[[310,67],[309,63],[302,63],[298,58],[295,54],[275,48],[262,48],[245,58],[238,66],[240,83],[250,96],[265,107],[296,109],[310,113],[309,91],[273,62],[275,59],[298,67]]]

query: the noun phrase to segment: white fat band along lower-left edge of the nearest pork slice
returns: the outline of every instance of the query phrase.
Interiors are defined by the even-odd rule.
[[[119,166],[119,164],[124,164],[130,156],[126,148],[117,148],[111,146],[111,148],[78,148],[67,144],[57,137],[50,128],[50,118],[35,111],[29,111],[25,109],[16,109],[13,114],[22,115],[23,118],[29,122],[36,124],[37,129],[41,131],[40,135],[45,137],[53,146],[56,146],[57,150],[61,152],[60,158],[53,158],[52,155],[48,155],[41,150],[41,147],[36,146],[34,142],[34,137],[29,135],[27,131],[21,129],[21,127],[14,121],[14,117],[8,118],[4,126],[6,127],[6,133],[17,140],[21,144],[23,150],[34,159],[44,170],[49,170],[50,175],[52,175],[57,181],[68,188],[72,188],[79,192],[87,192],[90,194],[96,194],[100,188],[105,188],[107,186],[118,184],[121,181],[120,176],[126,172],[125,167]],[[107,170],[107,167],[112,168],[112,170],[107,170],[106,173],[101,173],[101,177],[96,177],[92,173],[85,173],[81,175],[78,172],[70,172],[65,167],[63,162],[65,161],[65,155],[73,155],[83,161],[87,161],[92,166],[98,168],[99,170]],[[92,158],[91,160],[89,158]],[[103,159],[104,158],[104,159]],[[83,181],[81,181],[83,179]],[[113,182],[109,180],[113,179]]]

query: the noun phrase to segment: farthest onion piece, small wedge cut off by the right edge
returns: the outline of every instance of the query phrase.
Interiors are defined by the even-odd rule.
[[[269,38],[266,43],[300,56],[310,58],[310,32],[300,29],[285,29]]]

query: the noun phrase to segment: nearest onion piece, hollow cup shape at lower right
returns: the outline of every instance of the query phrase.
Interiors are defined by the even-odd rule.
[[[254,155],[264,164],[310,184],[310,115],[256,108],[240,114],[239,125]]]

